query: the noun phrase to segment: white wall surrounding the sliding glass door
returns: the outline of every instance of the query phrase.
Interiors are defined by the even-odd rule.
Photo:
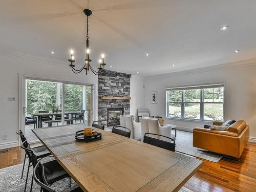
[[[16,57],[16,58],[15,58]],[[65,81],[95,83],[98,90],[98,77],[96,75],[74,74],[70,67],[53,63],[47,60],[26,56],[6,56],[0,54],[0,148],[15,146],[18,142],[16,131],[19,129],[19,73],[38,77],[55,78]],[[51,62],[51,61],[49,61]],[[58,66],[57,66],[58,65]],[[8,101],[8,96],[15,97],[16,101]],[[98,104],[98,92],[95,94],[95,103]],[[95,104],[95,105],[96,105]],[[98,105],[94,106],[98,109]],[[98,111],[95,111],[98,117]],[[3,135],[8,139],[3,140]]]

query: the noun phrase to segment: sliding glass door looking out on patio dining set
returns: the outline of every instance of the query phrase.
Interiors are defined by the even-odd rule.
[[[37,141],[32,129],[74,123],[91,124],[92,85],[25,79],[24,132]]]

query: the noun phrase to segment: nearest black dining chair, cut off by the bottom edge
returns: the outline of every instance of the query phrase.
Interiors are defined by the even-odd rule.
[[[38,162],[33,170],[33,179],[41,187],[42,192],[56,192],[53,188],[50,187],[50,184],[47,181],[45,166]],[[70,192],[82,192],[80,187],[77,187]]]

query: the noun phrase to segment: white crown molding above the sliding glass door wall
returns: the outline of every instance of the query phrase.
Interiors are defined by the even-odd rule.
[[[55,65],[55,66],[61,66],[61,67],[69,67],[67,65],[67,62],[63,62],[61,60],[49,58],[49,57],[39,57],[35,55],[31,55],[24,52],[14,52],[14,51],[8,51],[8,50],[0,50],[0,55],[6,56],[6,57],[12,57],[17,59],[23,59],[23,60],[29,60],[29,61],[35,61],[39,63],[45,63],[48,65]]]

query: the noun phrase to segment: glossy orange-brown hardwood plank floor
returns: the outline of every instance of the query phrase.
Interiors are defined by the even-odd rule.
[[[9,148],[9,152],[0,153],[0,168],[22,163],[23,159],[22,148]],[[248,143],[240,161],[226,158],[218,163],[203,161],[185,188],[196,192],[256,191],[256,143]]]

